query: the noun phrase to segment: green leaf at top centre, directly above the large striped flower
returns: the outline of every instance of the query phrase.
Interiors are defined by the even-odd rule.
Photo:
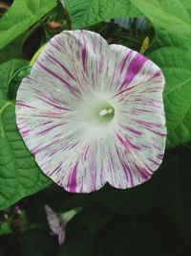
[[[65,2],[74,30],[111,18],[141,15],[129,0],[66,0]]]

